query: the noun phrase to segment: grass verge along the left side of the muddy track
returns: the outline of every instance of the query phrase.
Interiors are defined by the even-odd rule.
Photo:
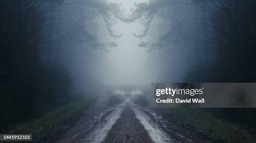
[[[84,111],[96,97],[85,97],[81,100],[74,101],[67,105],[55,108],[44,113],[40,118],[33,119],[27,123],[18,125],[18,128],[12,131],[13,134],[32,134],[33,142],[46,142],[46,138],[51,138],[54,134],[63,130],[79,114]]]

